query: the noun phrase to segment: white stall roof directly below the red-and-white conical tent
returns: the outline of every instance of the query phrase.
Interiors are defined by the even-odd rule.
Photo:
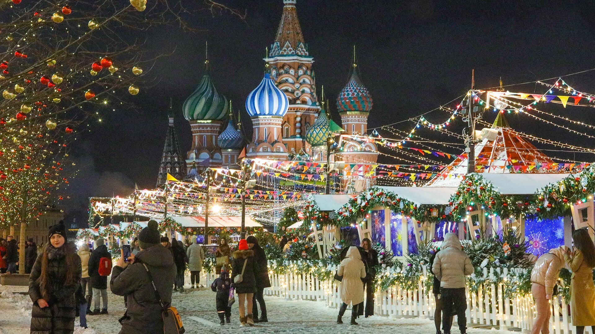
[[[541,173],[519,173],[519,174],[477,174],[486,179],[494,186],[494,190],[503,195],[528,195],[555,183],[571,174],[541,174]]]

